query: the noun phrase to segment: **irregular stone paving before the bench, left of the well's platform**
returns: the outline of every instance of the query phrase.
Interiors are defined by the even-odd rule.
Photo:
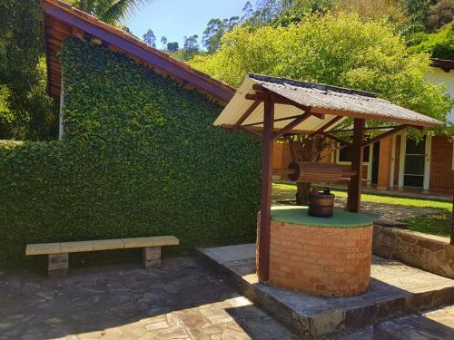
[[[0,271],[0,339],[281,340],[295,337],[191,258],[144,270]]]

